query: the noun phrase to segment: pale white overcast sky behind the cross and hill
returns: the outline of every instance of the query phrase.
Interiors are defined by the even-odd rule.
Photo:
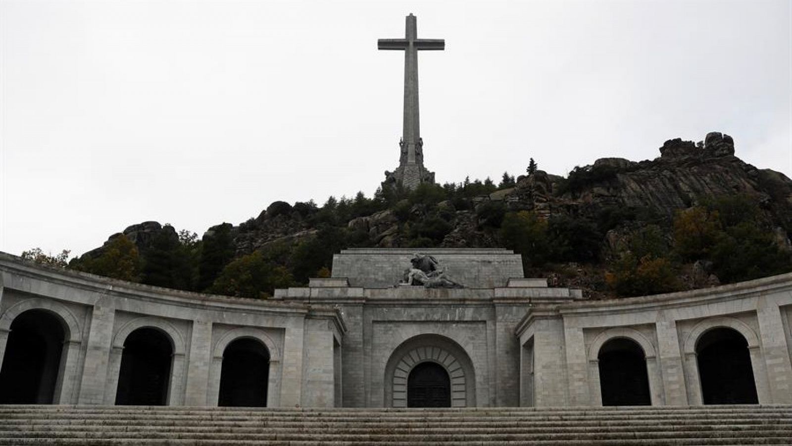
[[[368,196],[421,52],[441,183],[732,135],[792,176],[790,2],[0,0],[0,251],[81,254],[147,220],[203,233],[270,202]]]

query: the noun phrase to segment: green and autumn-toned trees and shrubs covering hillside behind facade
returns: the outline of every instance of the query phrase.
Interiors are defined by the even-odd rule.
[[[531,160],[529,174],[535,169]],[[576,167],[562,193],[607,182],[618,172],[608,165]],[[113,236],[68,267],[243,298],[265,298],[276,288],[328,277],[333,254],[378,245],[505,246],[522,255],[528,275],[553,273],[564,280],[589,275],[591,290],[605,292],[607,287],[619,297],[686,289],[691,286],[686,275],[699,260],[699,268],[706,264],[706,274],[721,283],[792,271],[790,254],[779,248],[769,214],[752,198],[711,198],[669,216],[618,205],[562,207],[549,201],[541,208],[524,207],[499,199],[502,194],[490,196],[515,186],[514,177],[504,172],[497,186],[490,179],[466,178],[442,186],[421,184],[413,191],[377,190],[371,198],[362,192],[351,199],[331,196],[322,206],[273,202],[238,227],[223,223],[210,228],[202,240],[169,225],[133,237],[134,243]],[[51,256],[36,248],[23,257],[66,267],[68,252]]]

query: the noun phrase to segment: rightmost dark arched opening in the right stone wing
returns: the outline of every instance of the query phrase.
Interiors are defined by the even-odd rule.
[[[695,346],[704,404],[757,404],[748,341],[735,329],[718,327]]]

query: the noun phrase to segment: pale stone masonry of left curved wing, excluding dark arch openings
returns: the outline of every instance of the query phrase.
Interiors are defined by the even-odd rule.
[[[165,333],[173,347],[167,403],[216,406],[224,348],[240,338],[268,350],[267,406],[332,407],[337,310],[223,298],[127,283],[0,253],[0,367],[14,319],[45,310],[66,333],[55,403],[114,404],[127,336]]]

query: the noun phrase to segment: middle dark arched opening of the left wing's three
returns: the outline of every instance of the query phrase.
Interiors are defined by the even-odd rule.
[[[165,406],[168,401],[173,343],[150,327],[136,329],[124,340],[116,405]]]

